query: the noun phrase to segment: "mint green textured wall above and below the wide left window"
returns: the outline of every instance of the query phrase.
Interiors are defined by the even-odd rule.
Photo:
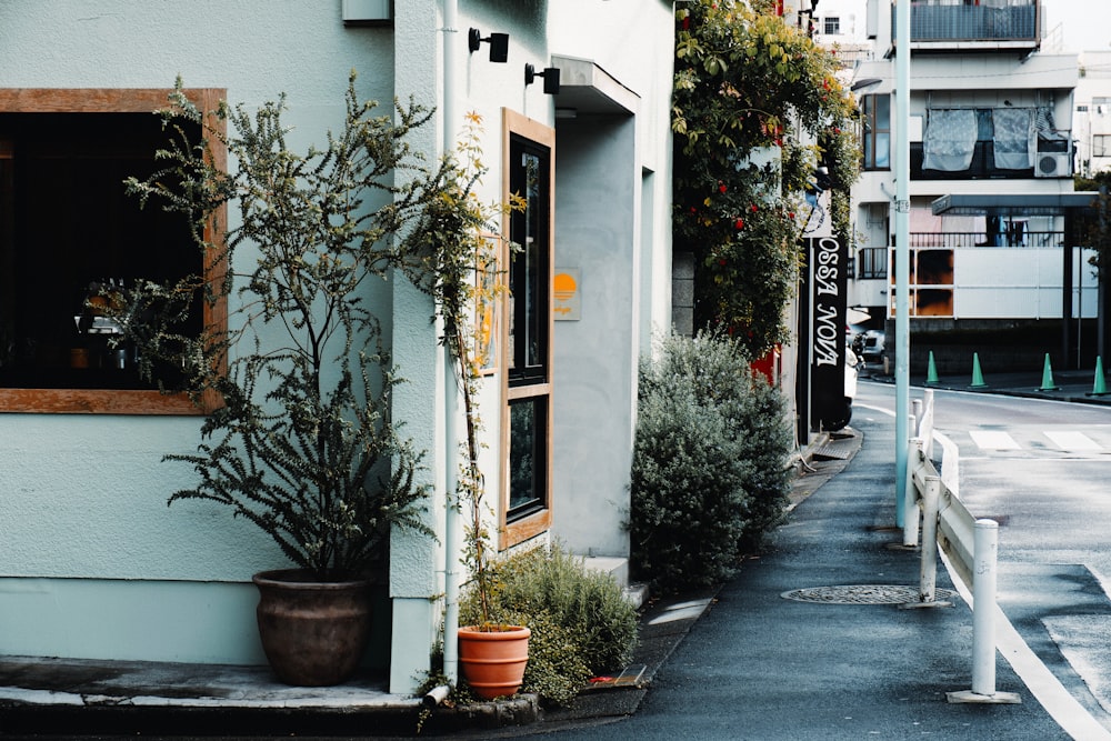
[[[344,28],[339,0],[3,2],[0,88],[169,89],[180,74],[251,108],[284,91],[303,147],[340,126],[352,68],[389,112],[392,39]],[[262,661],[249,580],[284,558],[216,504],[166,504],[193,479],[160,459],[192,451],[199,425],[0,413],[0,654]]]

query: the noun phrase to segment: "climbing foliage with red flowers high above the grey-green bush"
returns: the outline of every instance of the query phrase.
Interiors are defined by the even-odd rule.
[[[859,170],[854,104],[837,57],[770,2],[693,0],[675,11],[675,249],[695,256],[695,320],[758,357],[788,338],[804,192],[821,163]],[[802,143],[805,139],[812,142]],[[848,210],[834,210],[848,236]]]

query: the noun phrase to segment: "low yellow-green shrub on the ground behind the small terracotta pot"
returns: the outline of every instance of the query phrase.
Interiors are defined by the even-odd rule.
[[[532,629],[522,691],[567,704],[592,674],[621,669],[637,644],[638,615],[608,574],[557,545],[513,553],[494,565],[490,617]],[[477,622],[468,590],[460,623]]]

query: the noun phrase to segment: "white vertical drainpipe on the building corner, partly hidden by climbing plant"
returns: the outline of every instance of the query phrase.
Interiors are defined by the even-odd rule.
[[[443,0],[443,103],[440,106],[440,126],[443,130],[443,156],[448,157],[456,147],[456,74],[454,62],[459,39],[459,0]],[[442,332],[438,332],[442,336]],[[460,512],[456,502],[456,457],[459,441],[456,431],[458,394],[454,361],[448,343],[443,346],[443,431],[444,431],[444,487],[446,510],[443,524],[443,673],[454,684],[459,673],[459,530]]]

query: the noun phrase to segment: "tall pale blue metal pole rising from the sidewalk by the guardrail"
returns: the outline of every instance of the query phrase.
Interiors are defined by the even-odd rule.
[[[902,527],[910,407],[910,0],[895,9],[895,524]]]

